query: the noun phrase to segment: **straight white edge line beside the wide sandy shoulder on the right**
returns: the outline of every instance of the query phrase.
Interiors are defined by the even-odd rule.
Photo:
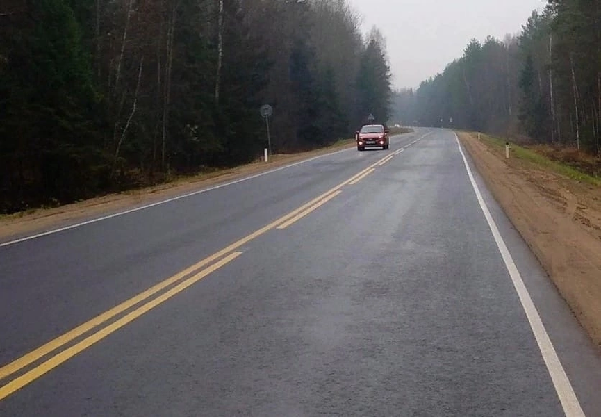
[[[488,222],[488,227],[491,228],[495,243],[497,243],[497,247],[499,248],[499,252],[501,252],[505,267],[507,268],[507,272],[509,272],[511,281],[513,281],[513,286],[516,288],[516,292],[518,293],[518,297],[520,298],[520,302],[522,303],[522,307],[526,313],[530,327],[532,328],[532,333],[534,333],[534,338],[536,338],[536,343],[538,343],[538,348],[541,350],[543,360],[549,370],[555,391],[557,391],[557,396],[563,407],[563,412],[567,417],[584,417],[584,411],[582,411],[576,393],[574,392],[572,384],[570,384],[570,379],[568,379],[568,375],[566,375],[566,370],[563,369],[563,366],[561,365],[561,361],[557,356],[557,352],[553,347],[553,343],[545,329],[545,325],[543,325],[541,316],[538,315],[538,310],[532,301],[532,297],[530,297],[530,294],[528,293],[524,281],[522,280],[522,276],[520,275],[520,271],[513,261],[509,249],[507,249],[507,245],[500,234],[497,224],[495,223],[495,220],[493,220],[491,211],[488,210],[488,206],[486,205],[486,202],[484,202],[484,198],[480,193],[480,189],[472,174],[470,165],[468,164],[466,154],[463,153],[463,149],[461,148],[461,142],[459,142],[457,133],[455,133],[455,138],[457,140],[457,145],[459,146],[459,152],[461,152],[461,157],[463,158],[463,163],[466,165],[468,177],[470,177],[470,182],[472,183],[472,187],[474,188],[480,204],[480,208]]]

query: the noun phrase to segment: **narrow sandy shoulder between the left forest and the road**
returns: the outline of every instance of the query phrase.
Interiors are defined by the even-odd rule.
[[[121,211],[127,211],[138,206],[145,206],[165,199],[194,193],[221,183],[236,181],[252,175],[261,174],[293,163],[338,152],[355,147],[354,140],[344,140],[331,147],[317,149],[299,154],[274,155],[270,161],[242,165],[229,170],[220,170],[209,174],[199,174],[196,177],[178,179],[159,186],[115,193],[103,197],[87,199],[74,204],[65,204],[56,208],[45,208],[31,213],[0,216],[0,239],[10,240],[32,234],[58,229],[69,224],[99,218]]]

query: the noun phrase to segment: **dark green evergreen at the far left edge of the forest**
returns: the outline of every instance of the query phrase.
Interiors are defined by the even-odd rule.
[[[3,188],[12,196],[6,211],[34,201],[65,202],[81,195],[86,182],[102,185],[94,120],[96,97],[79,25],[63,0],[28,3],[3,26],[8,45],[0,79],[0,142]]]

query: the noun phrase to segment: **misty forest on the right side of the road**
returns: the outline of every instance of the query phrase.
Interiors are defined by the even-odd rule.
[[[395,91],[393,115],[600,153],[600,19],[601,0],[549,0],[519,35],[471,40],[441,74]]]

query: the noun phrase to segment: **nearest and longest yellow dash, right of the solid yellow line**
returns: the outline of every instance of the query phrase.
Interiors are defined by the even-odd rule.
[[[72,357],[74,357],[76,354],[78,354],[82,350],[85,350],[88,347],[94,345],[94,343],[97,343],[98,341],[101,341],[102,339],[106,338],[106,336],[108,336],[109,334],[116,332],[121,327],[124,327],[124,325],[127,325],[130,322],[132,322],[133,320],[135,320],[136,318],[142,316],[142,314],[147,313],[148,311],[150,311],[151,309],[154,309],[154,307],[158,306],[159,304],[162,304],[163,302],[169,300],[174,295],[181,293],[181,291],[185,290],[192,284],[197,283],[198,281],[200,281],[207,275],[211,274],[211,272],[215,272],[215,270],[222,268],[222,266],[224,266],[227,263],[230,263],[234,259],[238,258],[238,256],[240,256],[241,254],[242,254],[242,252],[234,252],[233,254],[229,254],[227,257],[225,257],[221,261],[215,263],[214,265],[209,266],[208,268],[206,268],[205,270],[202,270],[201,272],[198,272],[196,275],[186,279],[185,281],[182,281],[180,284],[178,284],[177,286],[174,286],[166,293],[159,295],[158,297],[147,302],[146,304],[142,304],[142,306],[139,306],[137,309],[131,311],[131,313],[126,314],[119,320],[100,329],[98,332],[86,337],[85,339],[83,339],[83,341],[76,343],[75,345],[63,350],[62,352],[59,352],[58,354],[54,355],[47,361],[44,361],[44,363],[41,363],[40,365],[36,366],[35,368],[24,373],[20,377],[9,382],[8,384],[1,386],[0,387],[0,400],[3,400],[3,398],[8,397],[8,395],[14,393],[18,389],[21,389],[24,386],[26,386],[27,384],[30,384],[31,382],[35,381],[35,379],[38,379],[45,373],[48,373],[49,371],[51,371],[54,368],[56,368],[57,366],[59,366],[61,363],[64,363],[68,359],[71,359]]]

